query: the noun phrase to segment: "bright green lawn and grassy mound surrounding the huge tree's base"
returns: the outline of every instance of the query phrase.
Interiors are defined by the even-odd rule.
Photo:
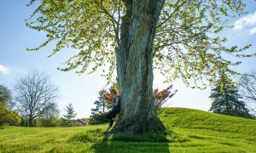
[[[104,137],[107,124],[7,127],[0,152],[256,152],[256,121],[184,108],[160,114],[168,135]]]

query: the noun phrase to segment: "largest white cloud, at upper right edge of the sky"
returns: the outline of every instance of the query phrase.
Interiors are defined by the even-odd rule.
[[[236,20],[234,30],[241,30],[244,26],[256,25],[256,11],[253,14],[247,14],[239,20]]]

